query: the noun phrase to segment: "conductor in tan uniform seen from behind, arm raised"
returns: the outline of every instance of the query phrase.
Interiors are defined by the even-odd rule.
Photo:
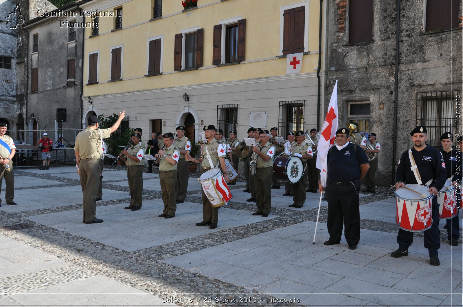
[[[101,223],[95,217],[96,198],[100,184],[100,160],[103,155],[102,141],[119,128],[125,111],[119,112],[119,118],[111,128],[98,129],[98,117],[88,117],[88,127],[79,132],[75,138],[75,163],[79,167],[79,178],[83,193],[82,220],[86,224]]]

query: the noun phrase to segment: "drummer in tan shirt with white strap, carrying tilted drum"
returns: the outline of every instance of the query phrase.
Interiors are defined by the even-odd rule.
[[[207,141],[201,145],[200,158],[192,158],[188,154],[187,159],[195,163],[201,164],[201,174],[214,168],[217,164],[219,164],[219,168],[223,175],[227,171],[225,167],[225,148],[214,138],[215,126],[204,126],[203,130]],[[228,176],[223,177],[225,179],[225,182],[229,181]],[[196,223],[196,226],[210,225],[209,228],[211,229],[217,228],[217,222],[219,221],[219,208],[212,206],[203,189],[201,189],[201,193],[203,203],[203,221],[200,223]]]

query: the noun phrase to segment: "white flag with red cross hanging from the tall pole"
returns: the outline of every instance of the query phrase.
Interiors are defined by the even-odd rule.
[[[328,161],[326,157],[336,139],[336,130],[338,130],[338,80],[336,80],[331,94],[330,104],[328,105],[328,111],[326,112],[325,122],[323,123],[317,146],[317,168],[321,171],[320,183],[323,187],[326,186],[326,179],[328,177]]]

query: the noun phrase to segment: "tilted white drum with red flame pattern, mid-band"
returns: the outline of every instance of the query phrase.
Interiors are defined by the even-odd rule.
[[[213,207],[223,206],[233,197],[219,168],[203,172],[200,176],[200,183]]]

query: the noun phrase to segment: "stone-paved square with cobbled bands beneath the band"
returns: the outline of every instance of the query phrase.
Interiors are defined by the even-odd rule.
[[[352,251],[344,238],[323,245],[327,203],[316,224],[319,194],[294,209],[282,186],[272,190],[269,217],[253,216],[240,178],[219,227],[209,229],[194,225],[202,220],[199,173],[175,218],[163,219],[157,169],[144,174],[143,206],[132,212],[123,209],[124,168],[108,166],[97,203],[104,222],[87,225],[75,167],[14,172],[18,206],[2,204],[0,226],[32,227],[0,230],[1,306],[462,305],[463,245],[449,245],[444,220],[440,266],[429,265],[422,233],[408,257],[389,256],[398,231],[390,188],[360,195],[361,239]]]

